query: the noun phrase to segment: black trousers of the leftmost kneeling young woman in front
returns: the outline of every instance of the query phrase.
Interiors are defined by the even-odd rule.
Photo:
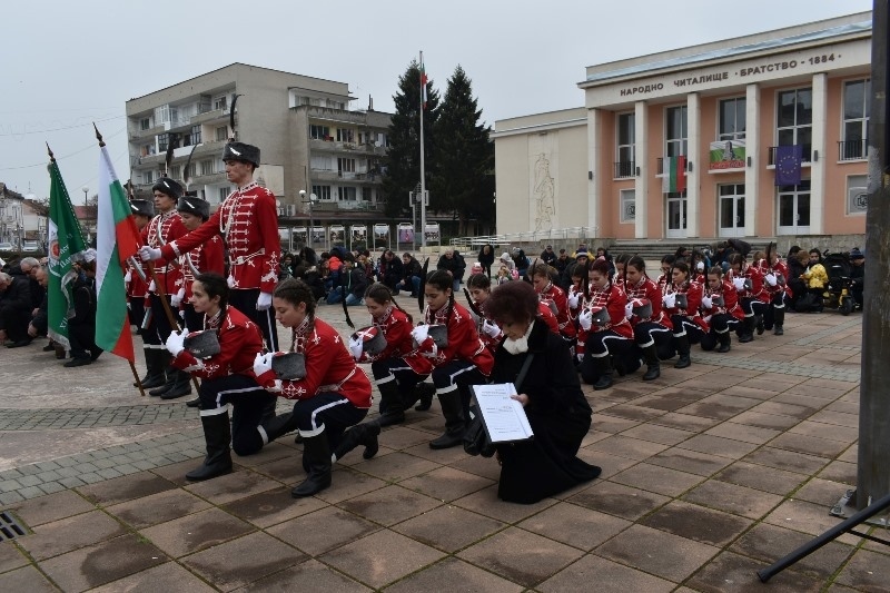
[[[216,416],[228,411],[231,404],[231,448],[238,455],[250,455],[263,448],[264,434],[259,431],[264,408],[276,396],[246,375],[228,375],[201,379],[198,389],[201,416]]]

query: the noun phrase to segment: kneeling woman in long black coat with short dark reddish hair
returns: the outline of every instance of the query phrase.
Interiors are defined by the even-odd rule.
[[[532,504],[594,480],[601,468],[577,457],[593,413],[567,344],[536,318],[534,288],[527,283],[498,286],[485,302],[485,314],[506,336],[495,352],[492,383],[514,383],[526,357],[534,356],[514,396],[534,438],[497,446],[497,496]]]

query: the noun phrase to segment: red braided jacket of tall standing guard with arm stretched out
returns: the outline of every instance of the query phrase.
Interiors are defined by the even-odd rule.
[[[220,234],[229,253],[230,286],[271,293],[281,249],[275,195],[254,181],[236,189],[207,223],[161,248],[161,254],[168,260],[179,257]]]

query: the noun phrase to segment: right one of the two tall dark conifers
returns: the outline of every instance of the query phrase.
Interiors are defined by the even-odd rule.
[[[481,122],[472,82],[459,65],[448,79],[438,111],[431,196],[437,196],[443,209],[455,213],[461,220],[459,235],[475,234],[468,228],[469,220],[485,226],[494,221],[494,142],[491,128]]]

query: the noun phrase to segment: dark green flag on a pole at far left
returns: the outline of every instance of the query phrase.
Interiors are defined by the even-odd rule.
[[[51,155],[51,154],[50,154]],[[87,249],[83,233],[75,216],[71,198],[62,181],[59,165],[50,156],[49,164],[49,274],[47,277],[47,323],[49,337],[70,349],[68,319],[75,315],[71,286],[77,279],[72,263]]]

